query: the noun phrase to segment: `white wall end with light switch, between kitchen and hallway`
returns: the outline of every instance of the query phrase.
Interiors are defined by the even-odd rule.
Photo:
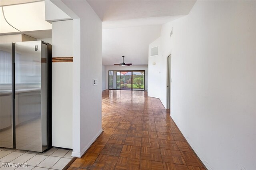
[[[53,1],[54,2],[54,1]],[[73,152],[72,156],[82,156],[89,146],[102,132],[101,127],[101,94],[102,94],[102,21],[98,18],[86,1],[63,1],[68,9],[79,18],[74,32],[77,49],[74,49],[79,59],[74,61],[76,80],[80,88],[76,88],[74,96],[79,109],[73,115]],[[79,32],[80,31],[80,32]],[[79,39],[80,38],[80,39]],[[80,51],[80,53],[79,53]],[[75,69],[74,69],[75,70]],[[80,70],[80,73],[78,72]],[[77,79],[80,75],[80,79]],[[93,86],[92,80],[98,79],[98,85]],[[79,106],[80,105],[80,106]]]

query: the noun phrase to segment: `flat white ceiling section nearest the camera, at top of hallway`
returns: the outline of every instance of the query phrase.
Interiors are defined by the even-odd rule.
[[[187,15],[193,0],[87,0],[102,21]]]

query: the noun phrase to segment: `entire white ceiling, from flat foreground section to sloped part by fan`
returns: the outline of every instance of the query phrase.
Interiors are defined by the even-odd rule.
[[[148,64],[148,45],[161,26],[187,15],[194,0],[87,0],[103,21],[102,64]]]

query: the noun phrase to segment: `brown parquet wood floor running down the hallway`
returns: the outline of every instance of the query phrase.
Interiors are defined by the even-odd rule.
[[[102,129],[69,170],[205,170],[170,111],[146,91],[103,91]]]

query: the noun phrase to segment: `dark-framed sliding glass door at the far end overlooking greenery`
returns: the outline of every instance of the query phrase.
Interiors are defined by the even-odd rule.
[[[144,90],[145,71],[108,71],[108,89]]]

